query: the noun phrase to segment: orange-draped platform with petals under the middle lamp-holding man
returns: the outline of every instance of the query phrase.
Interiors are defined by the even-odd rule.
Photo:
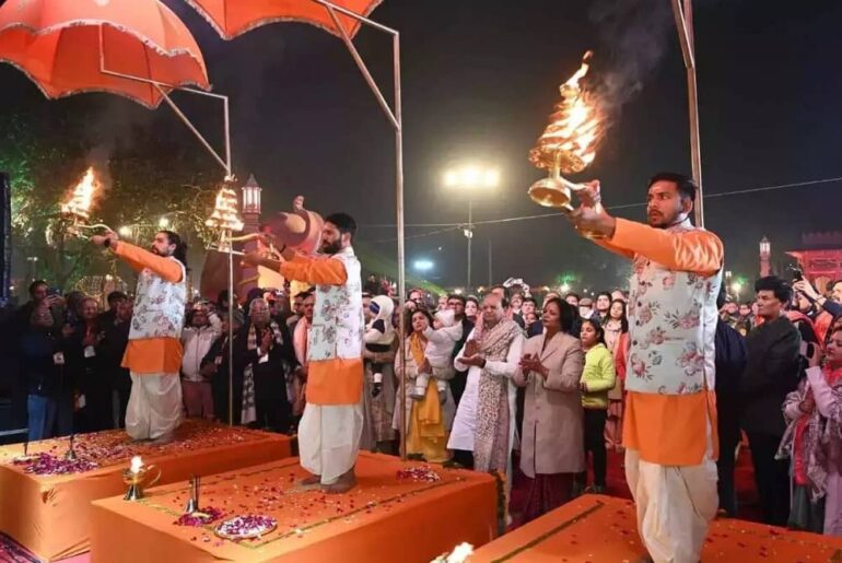
[[[491,476],[433,466],[440,481],[398,479],[408,466],[418,464],[361,453],[358,486],[342,495],[302,488],[299,481],[307,473],[294,459],[203,479],[202,505],[278,520],[274,531],[255,541],[222,540],[214,525],[176,526],[185,484],[157,488],[138,503],[97,501],[92,561],[426,563],[461,541],[481,546],[493,538]]]

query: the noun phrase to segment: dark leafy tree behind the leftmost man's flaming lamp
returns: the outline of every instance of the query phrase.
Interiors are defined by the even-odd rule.
[[[207,246],[212,233],[204,220],[213,207],[219,174],[197,154],[197,146],[155,134],[152,125],[136,125],[129,136],[102,143],[86,129],[92,112],[69,108],[0,116],[5,132],[0,139],[0,169],[9,174],[12,187],[14,262],[20,272],[22,257],[38,259],[36,270],[28,262],[26,274],[19,277],[43,277],[68,290],[84,275],[108,271],[102,253],[70,236],[59,215],[60,202],[89,166],[94,166],[103,185],[92,223],[129,225],[131,238],[145,242],[165,216],[169,228],[195,246]]]

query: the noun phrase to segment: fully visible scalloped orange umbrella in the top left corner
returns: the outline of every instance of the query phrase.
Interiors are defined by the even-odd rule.
[[[0,61],[50,98],[109,92],[154,108],[162,93],[143,80],[210,89],[196,39],[157,0],[7,0]]]

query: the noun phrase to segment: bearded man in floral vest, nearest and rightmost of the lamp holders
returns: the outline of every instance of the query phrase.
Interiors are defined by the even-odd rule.
[[[594,181],[571,215],[578,232],[633,261],[622,439],[638,530],[656,562],[699,561],[718,504],[714,339],[724,250],[690,223],[695,191],[686,176],[656,175],[643,225],[609,215]]]

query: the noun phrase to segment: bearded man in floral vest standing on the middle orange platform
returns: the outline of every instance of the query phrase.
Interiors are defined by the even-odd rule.
[[[356,484],[354,464],[363,427],[363,307],[356,222],[344,213],[325,218],[321,256],[283,245],[283,262],[252,253],[245,261],[316,286],[307,345],[307,404],[299,424],[301,465],[328,493]]]

